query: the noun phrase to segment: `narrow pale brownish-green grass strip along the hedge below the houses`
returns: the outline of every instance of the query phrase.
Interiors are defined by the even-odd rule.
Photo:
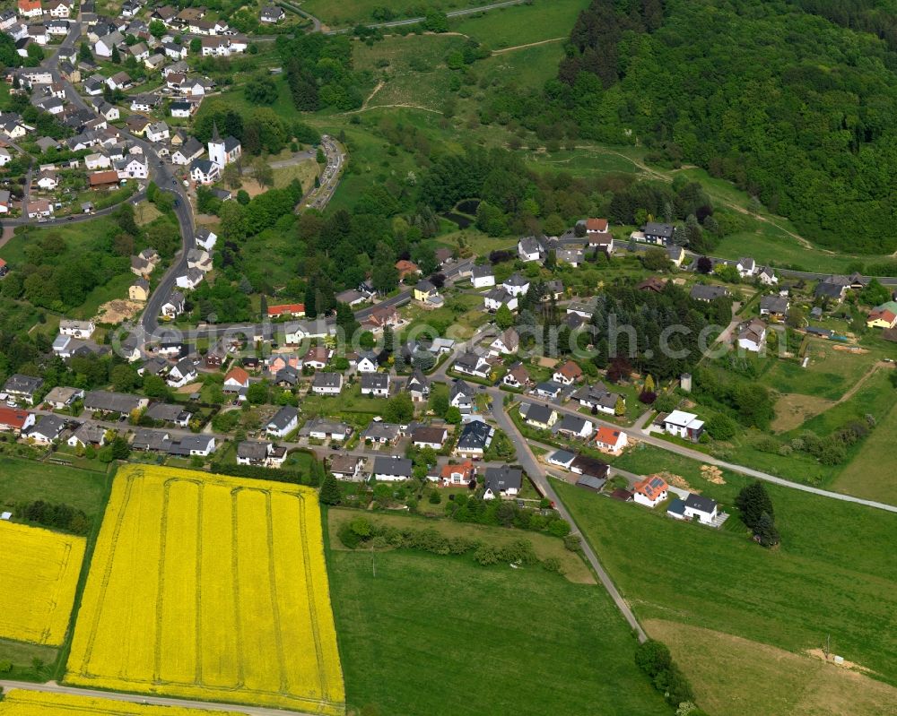
[[[335,535],[337,529],[343,522],[353,520],[358,517],[358,515],[359,513],[357,510],[330,508],[327,511],[327,529],[330,534]],[[557,557],[561,560],[563,575],[570,580],[570,582],[579,584],[595,583],[595,576],[589,571],[588,566],[582,561],[582,558],[565,548],[562,540],[557,539],[556,537],[539,534],[538,532],[525,532],[509,530],[502,527],[489,527],[479,524],[452,522],[450,520],[434,520],[415,517],[414,515],[405,513],[371,513],[366,514],[365,519],[369,520],[372,524],[396,527],[400,530],[436,530],[446,537],[482,539],[483,542],[487,542],[497,547],[509,544],[516,539],[528,539],[533,543],[533,549],[536,550],[536,556],[538,556],[539,559],[544,560],[549,557]],[[343,545],[339,539],[334,539],[331,542],[330,547],[333,549],[343,549]]]

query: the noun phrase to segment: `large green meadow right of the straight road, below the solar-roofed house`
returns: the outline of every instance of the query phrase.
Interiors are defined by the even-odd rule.
[[[692,465],[692,488],[733,512],[745,479],[726,473],[726,485],[712,485],[695,474],[699,463]],[[821,647],[829,634],[832,651],[897,684],[897,634],[882,628],[892,619],[897,588],[893,514],[768,485],[782,541],[766,550],[739,528],[736,515],[729,529],[714,531],[556,487],[638,617],[794,652]],[[635,542],[650,545],[649,558]]]

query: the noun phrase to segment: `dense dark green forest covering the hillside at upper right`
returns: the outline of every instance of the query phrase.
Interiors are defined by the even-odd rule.
[[[594,0],[558,78],[496,93],[490,112],[546,137],[644,143],[823,246],[892,252],[895,17],[868,0]]]

